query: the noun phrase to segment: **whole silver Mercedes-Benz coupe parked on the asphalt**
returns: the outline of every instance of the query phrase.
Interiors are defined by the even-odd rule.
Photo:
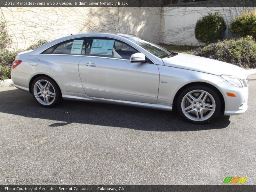
[[[139,36],[87,33],[16,56],[14,85],[43,107],[63,99],[177,109],[193,123],[247,109],[243,68],[171,52]]]

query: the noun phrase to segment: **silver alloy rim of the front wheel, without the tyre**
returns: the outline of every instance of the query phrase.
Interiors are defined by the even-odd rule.
[[[193,121],[209,119],[213,115],[215,107],[212,95],[203,90],[190,91],[181,101],[183,114]]]

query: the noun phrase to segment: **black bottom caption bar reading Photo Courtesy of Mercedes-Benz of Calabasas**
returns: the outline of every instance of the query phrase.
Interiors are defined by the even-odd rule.
[[[256,186],[249,186],[249,185],[186,185],[186,186],[178,186],[178,185],[1,185],[0,191],[6,192],[69,192],[69,191],[76,191],[76,192],[84,192],[84,191],[125,191],[125,192],[162,192],[162,191],[174,191],[174,192],[187,192],[187,191],[195,191],[195,192],[211,192],[211,191],[243,191],[243,192],[251,192],[256,191]]]

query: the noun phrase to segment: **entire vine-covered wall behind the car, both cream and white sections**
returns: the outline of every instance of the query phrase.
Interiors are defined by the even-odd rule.
[[[39,39],[87,32],[122,32],[156,43],[197,45],[196,21],[209,12],[227,25],[255,7],[0,7],[0,18],[12,36],[11,49],[24,49]],[[229,38],[228,30],[226,37]]]

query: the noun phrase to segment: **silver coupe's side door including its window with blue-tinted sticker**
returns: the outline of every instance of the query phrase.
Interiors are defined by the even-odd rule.
[[[138,52],[116,39],[86,39],[86,56],[79,62],[79,75],[89,97],[156,103],[159,70],[156,64],[131,63]]]

